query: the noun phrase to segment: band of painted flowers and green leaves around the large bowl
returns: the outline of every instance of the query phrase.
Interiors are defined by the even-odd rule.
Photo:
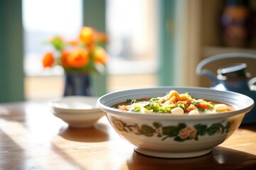
[[[161,140],[166,140],[168,137],[173,137],[176,142],[183,142],[185,140],[199,140],[198,136],[204,135],[218,135],[228,133],[232,122],[227,121],[223,125],[224,120],[220,123],[213,123],[212,125],[196,124],[193,126],[186,125],[186,123],[178,123],[178,125],[163,126],[159,122],[154,122],[152,125],[128,125],[122,120],[112,118],[114,127],[119,131],[131,132],[135,135],[145,135],[146,137],[161,137]]]

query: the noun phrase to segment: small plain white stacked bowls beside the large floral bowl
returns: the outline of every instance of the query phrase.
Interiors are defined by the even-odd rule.
[[[97,97],[67,96],[50,102],[50,106],[53,115],[76,128],[91,127],[105,115],[97,107]]]

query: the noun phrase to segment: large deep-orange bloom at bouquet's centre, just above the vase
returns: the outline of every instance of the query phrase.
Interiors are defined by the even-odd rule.
[[[82,48],[75,48],[67,57],[67,64],[70,67],[81,68],[89,62],[89,54],[87,50]]]

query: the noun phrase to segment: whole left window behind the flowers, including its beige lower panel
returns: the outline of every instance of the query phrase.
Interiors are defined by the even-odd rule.
[[[62,95],[61,67],[43,69],[43,42],[53,35],[74,38],[82,26],[82,0],[23,0],[25,98],[55,98]],[[49,77],[50,76],[50,77]]]

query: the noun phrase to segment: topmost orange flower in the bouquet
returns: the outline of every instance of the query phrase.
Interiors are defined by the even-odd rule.
[[[82,27],[80,31],[80,40],[85,45],[92,45],[95,40],[95,30],[90,27]]]

